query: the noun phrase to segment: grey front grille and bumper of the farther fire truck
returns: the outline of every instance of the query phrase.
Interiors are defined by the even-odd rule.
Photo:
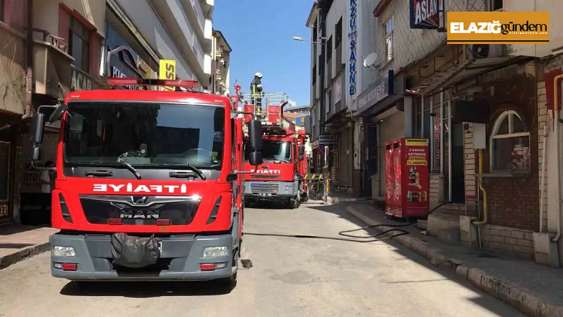
[[[244,197],[256,200],[290,199],[297,195],[297,181],[247,181]]]

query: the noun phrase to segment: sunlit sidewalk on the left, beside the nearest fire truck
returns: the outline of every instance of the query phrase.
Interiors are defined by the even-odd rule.
[[[0,225],[0,270],[48,251],[49,236],[57,231],[50,227]]]

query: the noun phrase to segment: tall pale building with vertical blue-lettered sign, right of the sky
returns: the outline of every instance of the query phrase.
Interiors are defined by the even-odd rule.
[[[358,95],[356,64],[359,7],[355,1],[318,1],[311,28],[311,144],[316,172],[329,173],[334,189],[359,195],[358,120],[351,111]],[[348,36],[347,36],[348,35]],[[350,58],[351,57],[351,58]]]

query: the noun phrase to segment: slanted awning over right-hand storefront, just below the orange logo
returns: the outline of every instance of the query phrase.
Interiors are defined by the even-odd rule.
[[[436,72],[426,81],[422,81],[406,92],[414,93],[415,95],[434,95],[440,91],[452,88],[467,79],[514,64],[522,58],[525,57],[494,57],[467,60],[441,72]]]

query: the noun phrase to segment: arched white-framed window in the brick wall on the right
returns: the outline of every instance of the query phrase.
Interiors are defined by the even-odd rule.
[[[530,132],[516,111],[498,116],[489,140],[491,171],[524,172],[530,169]]]

